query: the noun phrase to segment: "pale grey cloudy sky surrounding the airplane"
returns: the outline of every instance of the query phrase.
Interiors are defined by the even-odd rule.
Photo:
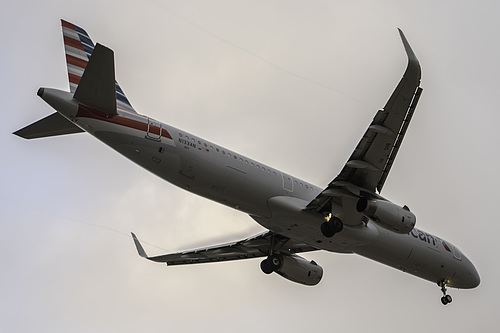
[[[0,11],[0,331],[447,330],[500,324],[497,1],[10,1]],[[439,288],[355,255],[310,253],[316,287],[260,260],[139,258],[262,231],[85,134],[11,133],[68,89],[60,19],[115,51],[132,105],[326,186],[417,54],[424,92],[383,195],[456,244],[482,283]]]

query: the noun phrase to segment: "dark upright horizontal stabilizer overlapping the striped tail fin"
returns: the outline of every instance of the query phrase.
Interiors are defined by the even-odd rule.
[[[116,115],[115,61],[111,49],[97,44],[73,96],[77,101]]]

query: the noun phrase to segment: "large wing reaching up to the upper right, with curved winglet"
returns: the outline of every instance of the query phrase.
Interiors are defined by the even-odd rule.
[[[340,174],[306,209],[326,213],[332,200],[343,205],[346,196],[377,196],[382,191],[417,106],[422,88],[420,64],[399,30],[408,56],[403,78],[382,110],[379,110]]]

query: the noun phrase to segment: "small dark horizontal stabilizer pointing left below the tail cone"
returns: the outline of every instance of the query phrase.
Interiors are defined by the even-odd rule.
[[[24,139],[36,139],[80,132],[83,132],[81,128],[56,112],[31,125],[21,128],[14,132],[14,134]]]

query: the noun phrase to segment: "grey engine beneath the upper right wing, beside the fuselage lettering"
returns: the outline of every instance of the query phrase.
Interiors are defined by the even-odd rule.
[[[361,198],[356,209],[384,228],[399,234],[409,233],[417,223],[415,214],[407,206],[400,207],[390,201]]]

